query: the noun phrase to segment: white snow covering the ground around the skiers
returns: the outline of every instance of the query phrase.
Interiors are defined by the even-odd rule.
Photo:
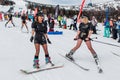
[[[29,41],[31,33],[22,33],[20,31],[21,19],[13,18],[17,27],[5,28],[6,21],[0,22],[0,79],[2,80],[120,80],[120,57],[115,56],[111,51],[120,55],[119,47],[92,42],[92,46],[97,52],[101,67],[104,73],[99,74],[90,51],[83,42],[81,47],[74,54],[78,64],[90,71],[84,71],[71,62],[62,58],[59,54],[65,55],[73,48],[76,41],[73,38],[75,31],[68,29],[55,30],[63,31],[63,35],[49,35],[52,44],[48,44],[49,53],[53,63],[63,63],[64,67],[49,71],[38,72],[25,75],[20,69],[32,68],[33,57],[35,53],[34,44]],[[27,25],[31,31],[31,22]],[[8,24],[8,26],[12,26]],[[97,27],[99,35],[93,34],[91,37],[98,37],[97,40],[119,45],[117,40],[103,37],[103,26]],[[26,29],[23,29],[25,32]],[[41,47],[40,65],[45,64],[44,52]]]

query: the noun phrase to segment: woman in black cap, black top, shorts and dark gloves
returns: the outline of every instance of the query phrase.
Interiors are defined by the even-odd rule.
[[[46,64],[53,65],[48,53],[48,47],[47,47],[47,41],[49,44],[51,44],[51,41],[48,38],[47,35],[47,25],[43,21],[44,17],[41,12],[37,13],[36,21],[32,23],[32,36],[30,38],[30,41],[32,42],[34,39],[35,44],[35,56],[34,56],[34,68],[39,68],[39,52],[40,52],[40,45],[42,45],[43,50],[45,52],[45,61]]]

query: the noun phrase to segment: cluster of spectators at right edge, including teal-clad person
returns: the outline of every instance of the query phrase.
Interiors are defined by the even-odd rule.
[[[108,19],[104,21],[104,37],[117,39],[120,43],[120,17],[118,19]]]

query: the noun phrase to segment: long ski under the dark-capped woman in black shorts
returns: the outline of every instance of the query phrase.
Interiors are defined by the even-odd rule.
[[[58,65],[54,65],[51,67],[41,67],[40,69],[20,69],[20,71],[24,74],[32,74],[32,73],[37,73],[37,72],[41,72],[41,71],[62,68],[63,66],[64,66],[63,64],[58,64]]]

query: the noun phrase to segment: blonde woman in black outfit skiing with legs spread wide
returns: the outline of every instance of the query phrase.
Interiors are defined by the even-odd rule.
[[[74,61],[73,54],[74,52],[81,46],[82,41],[84,40],[88,49],[92,53],[95,61],[98,60],[97,54],[92,48],[91,41],[90,41],[90,36],[93,33],[93,26],[92,23],[88,22],[88,18],[84,17],[82,19],[81,24],[79,25],[79,30],[77,33],[76,38],[74,40],[77,40],[76,46],[70,50],[68,54],[66,54],[66,57],[68,57],[70,60]]]

